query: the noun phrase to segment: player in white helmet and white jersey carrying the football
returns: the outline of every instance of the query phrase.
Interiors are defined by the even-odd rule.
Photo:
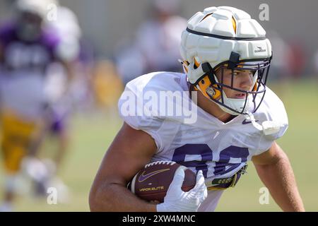
[[[147,107],[139,101],[147,91],[159,96],[190,90],[186,100],[196,102],[196,121],[185,123],[184,116],[156,109],[154,114],[126,114],[124,92],[119,99],[124,125],[95,177],[90,209],[213,211],[252,160],[282,210],[305,210],[288,157],[276,143],[288,118],[283,102],[266,87],[272,50],[265,30],[237,8],[206,8],[188,21],[180,51],[185,73],[149,73],[129,82],[125,91],[137,100],[138,111]],[[168,98],[167,106],[176,102]],[[126,184],[156,160],[172,160],[196,172],[194,189],[180,189],[184,173],[178,172],[163,203],[134,196]]]

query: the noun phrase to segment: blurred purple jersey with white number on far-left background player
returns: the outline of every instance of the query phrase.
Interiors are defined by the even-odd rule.
[[[53,32],[43,31],[33,42],[21,40],[17,35],[18,25],[7,24],[0,28],[0,44],[3,50],[1,64],[7,71],[42,71],[52,61],[60,42]]]

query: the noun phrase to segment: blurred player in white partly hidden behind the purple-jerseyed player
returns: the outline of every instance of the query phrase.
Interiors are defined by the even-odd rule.
[[[81,28],[78,19],[65,6],[57,7],[57,20],[49,20],[45,28],[55,30],[60,39],[60,46],[65,49],[66,59],[72,61],[71,75],[64,62],[54,61],[47,68],[45,95],[47,97],[47,135],[57,138],[57,151],[54,153],[54,165],[57,170],[66,156],[69,147],[68,119],[73,106],[73,96],[86,88],[79,85],[86,76],[85,70],[79,64],[81,52]],[[71,81],[68,81],[71,78]],[[85,83],[86,84],[86,83]]]

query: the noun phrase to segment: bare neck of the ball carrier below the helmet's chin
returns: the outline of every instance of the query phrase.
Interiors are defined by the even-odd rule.
[[[204,109],[205,112],[211,114],[213,117],[216,117],[218,120],[223,121],[224,123],[232,120],[235,116],[224,112],[218,105],[208,100],[201,92],[197,92],[197,105]]]

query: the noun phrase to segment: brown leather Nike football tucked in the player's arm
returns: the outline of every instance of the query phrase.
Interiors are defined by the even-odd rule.
[[[182,191],[189,191],[196,184],[196,174],[191,169],[170,161],[149,163],[134,176],[127,187],[143,200],[163,203],[163,198],[179,167],[184,169]]]

